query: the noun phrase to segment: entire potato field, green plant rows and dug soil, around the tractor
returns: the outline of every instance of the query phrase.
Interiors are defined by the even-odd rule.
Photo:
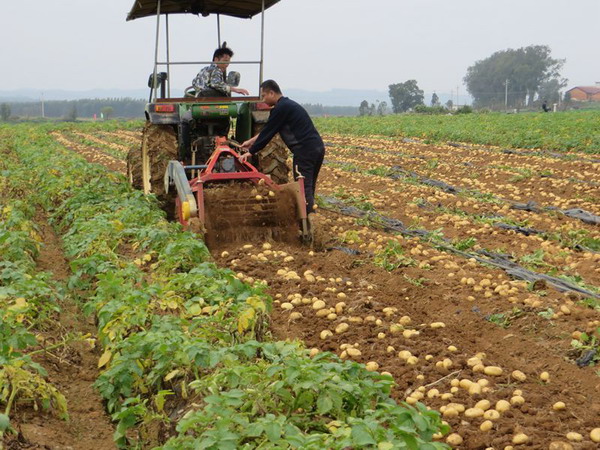
[[[140,123],[0,128],[7,448],[598,448],[587,114],[323,119],[315,246],[210,253]]]

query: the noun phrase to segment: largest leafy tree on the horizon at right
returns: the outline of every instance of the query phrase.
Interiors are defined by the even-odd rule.
[[[554,59],[550,53],[547,45],[531,45],[501,50],[477,61],[464,78],[475,105],[504,105],[506,93],[509,107],[532,105],[543,82],[560,79],[565,60]]]

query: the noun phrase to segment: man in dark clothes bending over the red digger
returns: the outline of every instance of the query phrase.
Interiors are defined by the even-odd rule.
[[[296,168],[304,177],[306,211],[310,214],[315,204],[317,177],[325,157],[323,139],[306,110],[295,101],[284,97],[275,81],[263,82],[260,85],[260,95],[267,105],[274,108],[261,132],[242,144],[242,148],[247,149],[248,153],[240,156],[240,160],[245,161],[250,155],[257,154],[279,133],[294,155],[294,179],[298,177]]]

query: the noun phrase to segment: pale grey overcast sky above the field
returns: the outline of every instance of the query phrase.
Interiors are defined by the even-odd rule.
[[[156,23],[126,22],[132,4],[0,0],[0,90],[145,88]],[[566,58],[569,87],[593,85],[599,19],[600,0],[281,0],[266,14],[265,77],[284,90],[385,91],[414,78],[426,92],[464,92],[475,61],[540,44]],[[169,25],[171,60],[210,59],[216,18],[171,16]],[[235,59],[259,57],[260,18],[223,18],[221,28]],[[172,85],[189,85],[199,69],[178,67]],[[258,69],[237,70],[256,94]]]

